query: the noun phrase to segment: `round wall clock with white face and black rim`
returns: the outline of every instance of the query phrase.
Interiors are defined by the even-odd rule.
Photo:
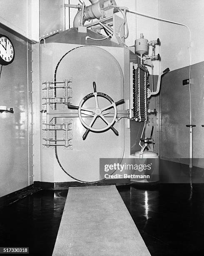
[[[0,64],[8,65],[14,60],[15,52],[12,42],[7,36],[0,34]]]

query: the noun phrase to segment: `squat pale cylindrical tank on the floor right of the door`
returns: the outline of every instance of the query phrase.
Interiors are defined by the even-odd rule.
[[[131,182],[152,183],[159,181],[159,155],[154,151],[137,151],[131,155],[131,164],[140,166],[135,168],[134,177]]]

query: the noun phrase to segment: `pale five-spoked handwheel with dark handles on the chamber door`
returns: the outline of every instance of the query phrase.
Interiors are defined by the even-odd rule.
[[[74,106],[74,105],[68,105],[67,107],[69,109],[77,109],[78,110],[78,115],[80,118],[80,121],[82,123],[82,125],[84,125],[87,130],[85,131],[84,135],[83,135],[83,140],[85,140],[85,138],[87,137],[88,133],[90,131],[95,131],[95,132],[102,132],[102,131],[107,131],[109,128],[112,129],[112,131],[118,136],[118,131],[113,127],[113,124],[117,118],[117,105],[123,104],[124,103],[124,99],[119,100],[117,102],[114,102],[112,100],[111,97],[109,97],[107,94],[103,93],[103,92],[97,92],[96,91],[96,83],[93,82],[93,87],[94,87],[94,92],[91,92],[90,94],[86,95],[81,101],[79,106]],[[95,108],[84,108],[83,104],[85,103],[85,101],[87,101],[88,99],[90,99],[91,97],[95,97]],[[108,105],[107,107],[104,108],[100,108],[99,107],[99,103],[98,103],[98,99],[97,97],[104,97],[106,98],[111,105]],[[109,108],[114,108],[114,116],[111,122],[109,122],[103,115],[103,112]],[[82,119],[82,111],[87,111],[91,113],[91,116],[93,116],[93,119],[91,121],[91,123],[88,125],[87,123],[85,123],[85,121]],[[93,128],[92,125],[94,124],[95,120],[100,117],[102,118],[102,120],[104,120],[104,122],[107,124],[105,127],[103,128]]]

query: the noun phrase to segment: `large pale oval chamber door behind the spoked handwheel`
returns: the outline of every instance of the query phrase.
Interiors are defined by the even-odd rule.
[[[60,61],[55,72],[56,81],[63,81],[66,77],[72,78],[71,104],[79,106],[86,95],[93,92],[93,82],[97,92],[108,95],[114,102],[124,98],[124,79],[122,69],[117,60],[107,51],[95,46],[82,46],[69,51]],[[97,97],[100,109],[107,107],[107,98]],[[90,97],[83,104],[84,108],[95,106],[95,97]],[[65,104],[56,104],[56,110],[65,110],[67,113],[76,113]],[[110,108],[105,119],[112,123],[115,118],[115,109]],[[117,106],[117,110],[124,110],[124,104]],[[65,150],[64,146],[57,146],[57,157],[62,168],[76,180],[81,182],[96,182],[100,177],[100,158],[122,159],[124,156],[124,127],[125,118],[114,122],[112,127],[107,126],[102,118],[93,122],[93,116],[79,115],[72,117],[72,149]],[[57,118],[63,122],[66,118]],[[87,127],[92,131],[83,140]],[[109,125],[110,126],[110,125]],[[107,129],[103,127],[108,127]]]

